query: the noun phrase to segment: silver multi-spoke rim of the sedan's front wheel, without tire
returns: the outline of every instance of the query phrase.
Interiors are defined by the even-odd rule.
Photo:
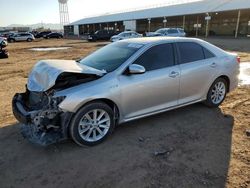
[[[109,114],[105,110],[91,110],[80,120],[78,133],[87,142],[98,141],[107,134],[110,122]]]

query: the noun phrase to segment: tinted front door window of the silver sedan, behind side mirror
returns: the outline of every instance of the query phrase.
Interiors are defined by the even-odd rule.
[[[172,44],[153,46],[142,54],[134,64],[142,65],[147,71],[161,69],[174,65],[174,50]]]

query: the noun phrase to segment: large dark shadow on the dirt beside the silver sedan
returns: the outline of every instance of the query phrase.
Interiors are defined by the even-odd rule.
[[[120,125],[86,148],[34,146],[10,125],[0,129],[0,187],[225,187],[233,124],[196,104]]]

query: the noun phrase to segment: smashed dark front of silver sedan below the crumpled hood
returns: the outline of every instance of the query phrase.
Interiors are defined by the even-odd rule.
[[[67,139],[67,127],[73,113],[65,113],[58,108],[64,99],[28,89],[25,93],[16,94],[12,108],[14,116],[21,122],[22,135],[42,146]]]

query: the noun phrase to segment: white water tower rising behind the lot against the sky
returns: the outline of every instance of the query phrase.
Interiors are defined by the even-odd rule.
[[[69,24],[69,11],[68,11],[68,0],[58,0],[59,2],[59,13],[60,13],[60,25],[63,29],[64,25]]]

